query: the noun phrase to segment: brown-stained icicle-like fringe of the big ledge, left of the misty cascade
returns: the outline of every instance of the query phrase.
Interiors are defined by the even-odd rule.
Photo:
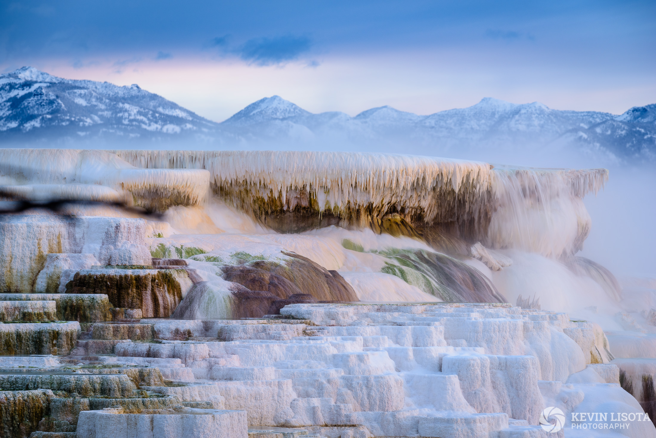
[[[489,164],[358,152],[113,150],[147,168],[196,168],[240,208],[274,213],[300,205],[331,211],[359,224],[358,213],[390,207],[424,221],[455,220],[455,209],[476,215],[491,189]],[[264,211],[262,211],[264,210]]]

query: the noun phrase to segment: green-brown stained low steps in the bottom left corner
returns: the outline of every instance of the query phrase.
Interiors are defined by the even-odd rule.
[[[36,363],[43,357],[20,359],[25,359],[24,363]],[[179,364],[179,361],[172,362]],[[69,436],[67,434],[76,433],[81,412],[115,406],[130,414],[157,410],[163,410],[161,414],[166,414],[174,408],[224,408],[223,398],[213,385],[166,387],[159,369],[155,367],[56,365],[32,370],[19,368],[12,374],[3,374],[0,370],[1,436],[66,437]],[[144,389],[136,389],[140,385]]]

